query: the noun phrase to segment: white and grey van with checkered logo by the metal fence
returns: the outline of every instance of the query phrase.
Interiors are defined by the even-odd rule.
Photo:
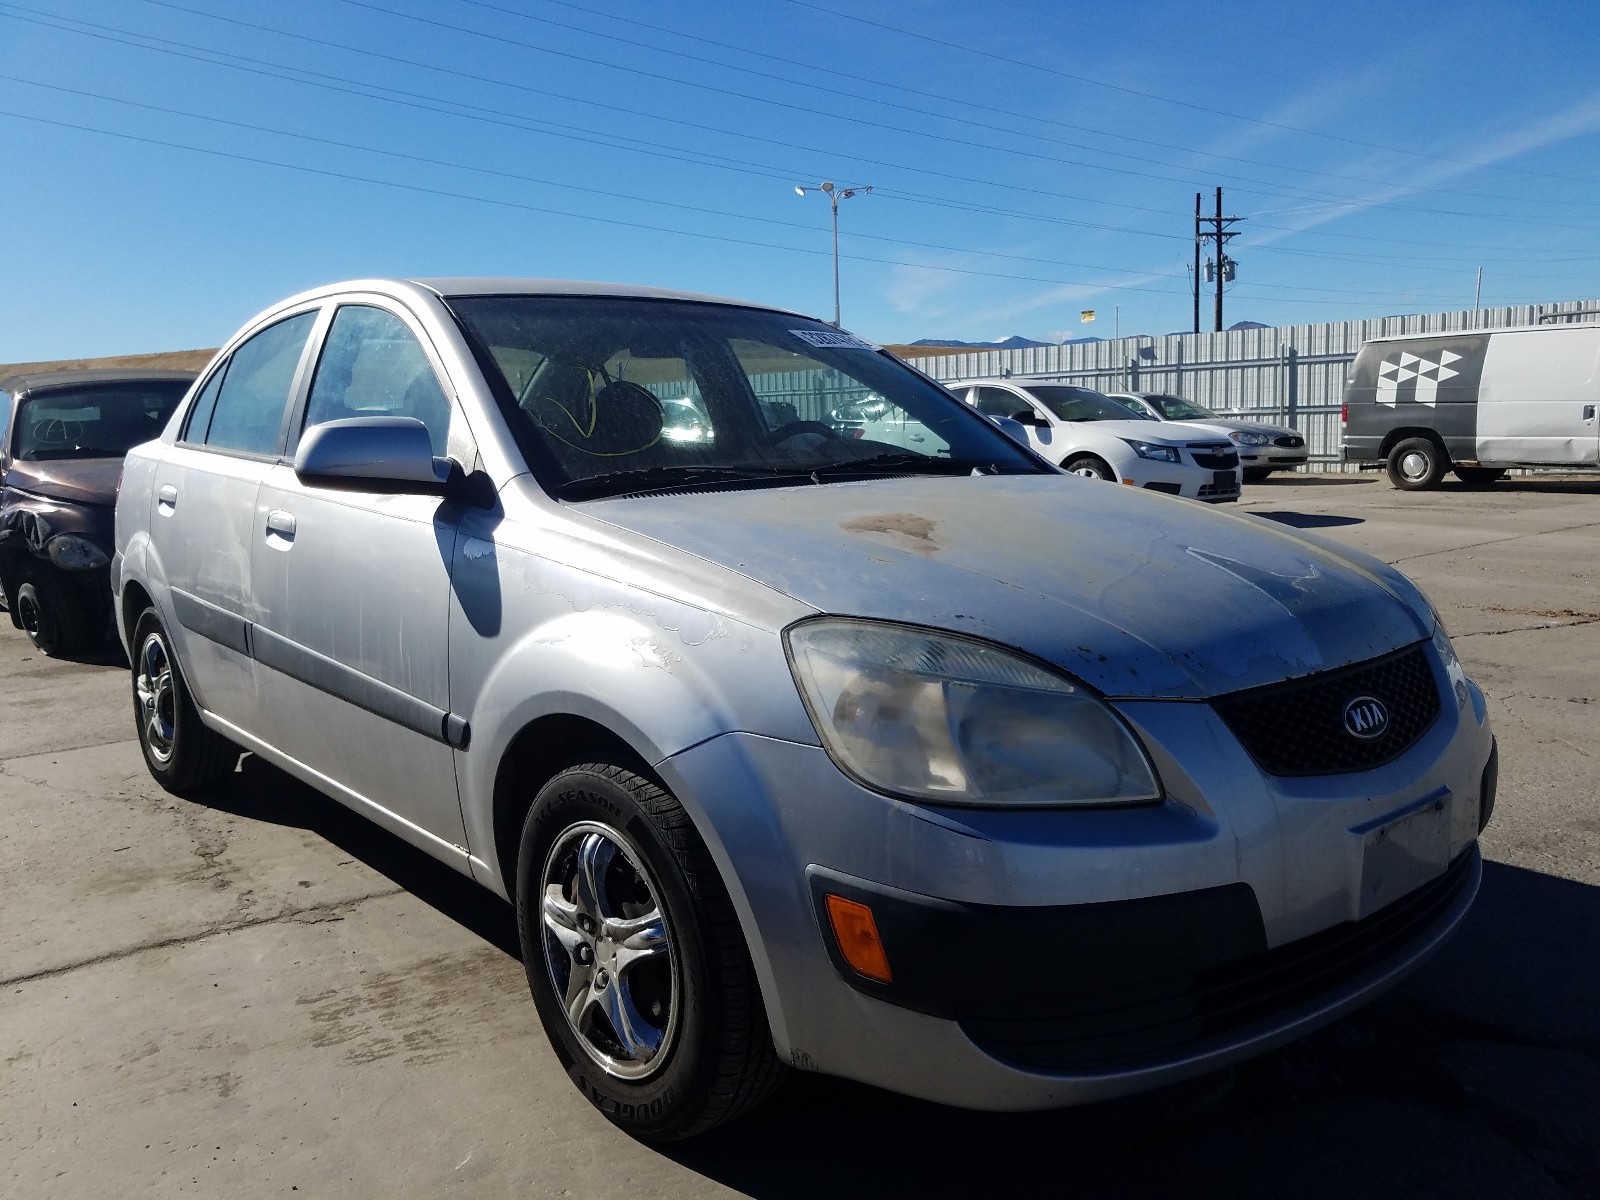
[[[1595,467],[1597,405],[1595,323],[1374,338],[1344,386],[1339,451],[1406,491],[1446,470],[1486,486],[1507,467]]]

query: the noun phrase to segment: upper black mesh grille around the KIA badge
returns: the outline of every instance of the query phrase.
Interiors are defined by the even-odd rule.
[[[1363,741],[1344,728],[1346,706],[1374,696],[1389,730]],[[1339,774],[1405,754],[1438,717],[1438,683],[1422,646],[1213,701],[1218,715],[1267,774]]]

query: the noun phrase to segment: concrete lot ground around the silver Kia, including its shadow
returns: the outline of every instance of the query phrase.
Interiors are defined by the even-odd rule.
[[[1400,992],[1093,1109],[808,1075],[651,1149],[557,1067],[502,902],[253,758],[168,797],[126,669],[0,622],[0,1195],[1600,1197],[1600,482],[1245,494],[1406,570],[1491,698],[1482,899]]]

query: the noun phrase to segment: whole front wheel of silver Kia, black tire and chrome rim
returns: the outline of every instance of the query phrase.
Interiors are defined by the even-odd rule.
[[[587,763],[539,789],[517,928],[555,1056],[627,1133],[702,1133],[782,1080],[728,891],[683,806],[650,779]]]

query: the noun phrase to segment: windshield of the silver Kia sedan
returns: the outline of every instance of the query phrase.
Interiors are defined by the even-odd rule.
[[[990,422],[861,339],[762,309],[610,296],[450,307],[562,498],[874,472],[1037,472]]]

